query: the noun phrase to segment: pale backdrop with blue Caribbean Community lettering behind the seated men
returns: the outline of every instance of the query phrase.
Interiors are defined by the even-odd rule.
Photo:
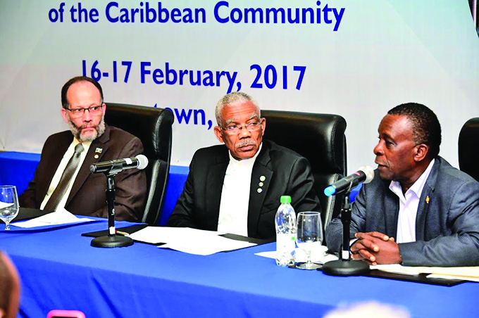
[[[147,4],[149,18],[161,6],[168,21],[142,22]],[[80,6],[88,15],[81,21]],[[256,23],[252,13],[246,20],[244,8],[256,10]],[[311,8],[313,22],[274,23],[274,13],[267,21],[270,8]],[[138,9],[135,21],[132,9]],[[187,23],[195,9],[205,14]],[[172,22],[172,13],[181,22]],[[343,115],[349,171],[374,165],[380,119],[399,103],[433,108],[444,131],[441,154],[456,166],[459,130],[479,113],[479,40],[467,0],[4,0],[0,38],[0,148],[6,151],[39,153],[49,134],[67,129],[61,86],[92,71],[106,101],[173,110],[173,165],[188,165],[197,148],[218,142],[214,106],[239,83],[263,109]],[[157,77],[163,80],[157,84],[154,70],[166,76],[167,68],[169,83]],[[189,71],[182,83],[181,70]],[[251,87],[259,70],[262,88]],[[193,79],[199,72],[200,85],[190,83],[190,72]],[[223,74],[219,82],[217,74]]]

